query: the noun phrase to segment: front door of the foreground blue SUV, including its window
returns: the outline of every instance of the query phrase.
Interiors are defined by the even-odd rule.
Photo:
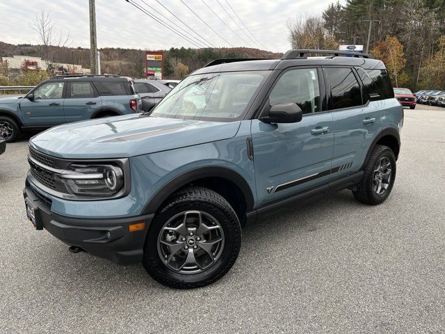
[[[296,103],[302,120],[279,124],[252,120],[259,206],[329,182],[334,127],[331,113],[323,109],[321,82],[320,68],[287,70],[275,82],[268,104]]]

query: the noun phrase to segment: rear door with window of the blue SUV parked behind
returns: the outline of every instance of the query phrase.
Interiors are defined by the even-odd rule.
[[[68,81],[65,122],[89,120],[102,109],[102,99],[90,81]]]

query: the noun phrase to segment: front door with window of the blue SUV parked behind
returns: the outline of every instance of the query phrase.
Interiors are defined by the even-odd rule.
[[[33,100],[24,97],[20,102],[22,119],[26,127],[52,127],[65,122],[63,102],[66,83],[52,81],[42,84],[32,94]]]

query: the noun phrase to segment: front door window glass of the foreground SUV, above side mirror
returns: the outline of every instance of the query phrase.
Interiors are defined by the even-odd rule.
[[[303,113],[321,111],[317,70],[301,68],[285,72],[269,96],[270,105],[296,103]]]

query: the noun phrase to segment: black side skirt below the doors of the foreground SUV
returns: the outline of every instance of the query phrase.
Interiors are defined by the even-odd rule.
[[[266,216],[282,211],[283,209],[300,207],[301,205],[305,205],[314,200],[320,200],[329,194],[337,193],[343,189],[355,186],[355,184],[362,180],[362,177],[363,171],[361,170],[353,175],[334,180],[323,186],[317,186],[314,189],[309,189],[308,191],[298,193],[291,197],[283,198],[282,200],[277,200],[276,202],[258,207],[246,214],[247,223],[254,223],[258,219],[265,218]]]

